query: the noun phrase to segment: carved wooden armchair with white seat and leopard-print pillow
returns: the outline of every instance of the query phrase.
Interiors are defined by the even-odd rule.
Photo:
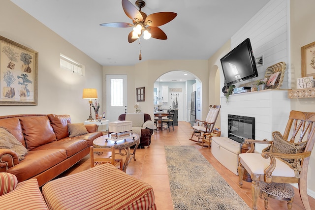
[[[243,185],[246,170],[252,178],[252,209],[257,210],[259,182],[263,181],[298,183],[304,208],[311,210],[307,195],[307,171],[315,142],[314,122],[315,113],[291,111],[283,136],[276,131],[273,132],[273,142],[245,140],[246,144],[251,144],[251,149],[239,154],[239,185]],[[262,154],[253,153],[254,144],[271,143],[270,149],[266,148],[267,151],[263,150]]]

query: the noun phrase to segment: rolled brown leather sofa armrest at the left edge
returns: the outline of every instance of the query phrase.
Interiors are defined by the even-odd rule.
[[[19,157],[16,152],[8,149],[0,149],[0,172],[5,172],[8,168],[19,163]]]

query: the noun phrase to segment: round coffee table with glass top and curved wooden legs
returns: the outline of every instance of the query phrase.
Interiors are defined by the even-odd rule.
[[[115,147],[115,149],[119,150],[119,154],[122,156],[126,155],[126,160],[124,162],[124,172],[126,173],[126,169],[128,167],[129,162],[133,158],[135,158],[136,150],[139,146],[139,135],[137,134],[132,134],[131,136],[126,137],[125,139],[122,140],[112,140],[109,138],[108,135],[100,136],[96,138],[93,141],[93,147],[95,148],[111,148],[112,146]],[[135,145],[133,152],[130,153],[130,147]]]

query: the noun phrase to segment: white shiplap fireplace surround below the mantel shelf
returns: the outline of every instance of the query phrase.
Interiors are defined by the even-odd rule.
[[[227,115],[255,118],[255,139],[271,140],[273,131],[284,132],[290,109],[288,90],[261,90],[221,97],[221,136],[227,137]],[[256,147],[261,151],[264,146]]]

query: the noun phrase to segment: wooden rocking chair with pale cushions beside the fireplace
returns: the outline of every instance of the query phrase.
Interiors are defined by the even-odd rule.
[[[210,105],[209,107],[210,108],[206,120],[195,120],[195,122],[198,124],[192,126],[193,132],[189,140],[199,143],[201,136],[206,139],[207,135],[209,136],[209,134],[212,133],[220,112],[221,105]],[[196,136],[198,140],[193,140],[193,136]]]

